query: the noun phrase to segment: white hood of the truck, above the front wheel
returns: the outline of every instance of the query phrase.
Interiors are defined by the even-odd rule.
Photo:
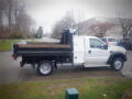
[[[121,46],[116,46],[116,45],[109,45],[108,50],[111,51],[111,52],[121,52],[123,54],[127,53],[125,48],[123,48]]]

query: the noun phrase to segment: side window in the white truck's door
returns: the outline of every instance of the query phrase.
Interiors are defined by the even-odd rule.
[[[103,46],[105,46],[105,44],[101,41],[99,41],[97,38],[90,38],[90,47],[91,48],[101,48]]]

